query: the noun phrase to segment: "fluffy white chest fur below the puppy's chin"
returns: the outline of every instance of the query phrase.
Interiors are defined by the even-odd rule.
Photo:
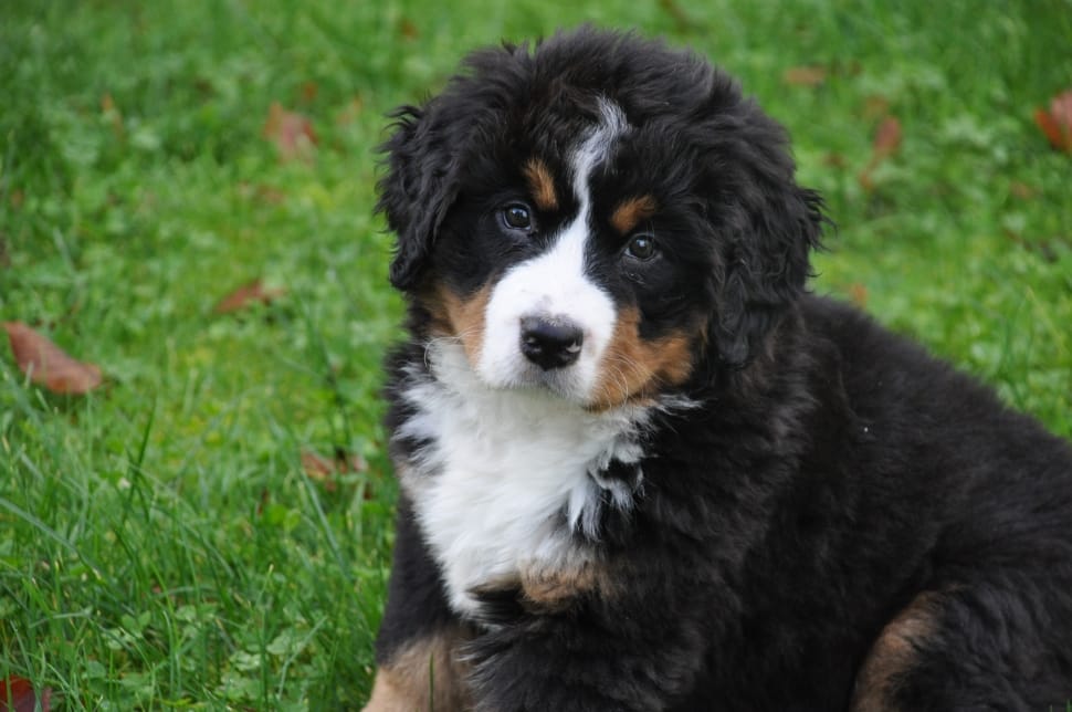
[[[592,556],[571,532],[593,534],[601,488],[629,505],[621,482],[596,475],[612,459],[640,460],[634,438],[647,411],[591,413],[544,390],[490,389],[450,343],[429,348],[429,358],[434,378],[414,374],[404,397],[417,413],[399,429],[429,446],[403,484],[452,607],[474,615],[476,586]]]

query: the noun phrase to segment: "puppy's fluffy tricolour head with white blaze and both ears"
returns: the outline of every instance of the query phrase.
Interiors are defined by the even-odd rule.
[[[493,388],[590,409],[739,368],[805,289],[820,200],[703,59],[589,28],[471,55],[399,111],[391,282]]]

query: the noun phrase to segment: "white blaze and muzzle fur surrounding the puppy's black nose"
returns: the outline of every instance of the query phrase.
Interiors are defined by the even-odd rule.
[[[628,124],[621,109],[599,100],[600,123],[587,134],[570,160],[577,217],[539,256],[509,269],[492,291],[485,314],[484,344],[477,375],[487,385],[544,385],[558,394],[585,400],[598,380],[600,357],[614,331],[617,310],[610,295],[585,273],[590,240],[589,180]],[[521,320],[545,316],[568,320],[584,332],[580,357],[568,368],[543,371],[522,354]]]

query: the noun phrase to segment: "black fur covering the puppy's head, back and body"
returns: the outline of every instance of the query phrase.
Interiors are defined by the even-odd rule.
[[[605,507],[616,594],[539,611],[517,590],[487,591],[496,625],[464,628],[476,708],[847,710],[883,627],[933,591],[890,709],[1063,710],[1072,449],[806,292],[821,202],[795,184],[784,130],[698,56],[632,35],[581,29],[466,66],[402,109],[386,145],[380,208],[398,233],[391,280],[411,297],[413,339],[390,367],[389,426],[409,415],[403,370],[423,368],[423,287],[470,293],[539,249],[503,247],[486,216],[523,190],[528,157],[565,169],[600,94],[634,129],[613,170],[592,177],[593,200],[653,195],[669,254],[618,274],[607,237],[590,270],[640,308],[643,336],[697,315],[706,334],[676,389],[701,407],[656,416],[642,496],[629,516]],[[403,459],[414,447],[395,442]],[[403,495],[385,663],[459,626],[411,520]]]

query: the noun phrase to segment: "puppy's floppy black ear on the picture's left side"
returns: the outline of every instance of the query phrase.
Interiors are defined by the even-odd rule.
[[[432,106],[402,106],[391,114],[395,133],[380,146],[387,174],[379,180],[377,212],[397,235],[391,284],[413,289],[437,232],[458,196],[458,140]]]

